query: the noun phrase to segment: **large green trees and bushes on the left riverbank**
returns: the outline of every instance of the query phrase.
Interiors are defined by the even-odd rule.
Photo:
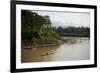
[[[41,16],[29,10],[21,11],[21,36],[24,41],[33,43],[55,43],[59,38],[58,34],[51,28],[49,16]]]

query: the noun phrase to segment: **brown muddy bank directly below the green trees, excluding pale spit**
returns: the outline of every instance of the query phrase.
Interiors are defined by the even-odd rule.
[[[62,40],[57,40],[56,42],[53,43],[47,41],[40,41],[40,40],[38,42],[26,41],[22,44],[22,50],[28,50],[28,49],[40,48],[40,47],[58,46],[62,43],[64,43],[64,41]]]

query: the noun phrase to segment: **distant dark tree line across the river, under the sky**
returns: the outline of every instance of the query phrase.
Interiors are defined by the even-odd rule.
[[[54,28],[60,36],[77,36],[77,37],[90,37],[90,28],[88,27],[66,27],[59,26]]]

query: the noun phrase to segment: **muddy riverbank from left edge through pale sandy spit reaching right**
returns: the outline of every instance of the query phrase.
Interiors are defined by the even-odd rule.
[[[51,46],[58,46],[63,43],[80,43],[81,38],[80,37],[60,37],[60,39],[56,40],[56,42],[47,42],[47,41],[35,41],[35,42],[30,42],[26,41],[24,44],[22,44],[22,49],[27,50],[27,49],[32,49],[32,48],[40,48],[40,47],[51,47]]]

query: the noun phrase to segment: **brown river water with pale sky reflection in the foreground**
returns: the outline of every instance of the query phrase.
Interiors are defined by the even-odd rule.
[[[90,59],[89,38],[79,38],[77,43],[64,43],[59,46],[33,48],[21,53],[21,61],[47,62]]]

